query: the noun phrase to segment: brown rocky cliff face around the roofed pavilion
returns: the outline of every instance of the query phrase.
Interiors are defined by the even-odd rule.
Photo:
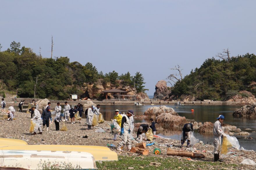
[[[111,83],[104,83],[103,79],[98,79],[97,82],[94,84],[83,84],[83,87],[81,90],[84,92],[81,95],[81,98],[88,97],[90,99],[97,99],[97,100],[102,100],[103,99],[103,93],[102,91],[105,90],[110,90],[110,89],[119,89],[123,91],[127,91],[127,95],[134,95],[134,87],[130,86],[125,86],[121,84],[121,80],[117,80],[116,84],[111,84]],[[140,101],[141,99],[144,99],[145,101],[149,101],[149,97],[147,96],[146,93],[137,93],[137,100]],[[109,97],[114,97],[111,95],[111,93],[108,94]]]

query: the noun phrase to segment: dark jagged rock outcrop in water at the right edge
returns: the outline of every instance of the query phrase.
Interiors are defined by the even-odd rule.
[[[233,113],[234,117],[256,117],[256,102],[250,106],[243,106]]]

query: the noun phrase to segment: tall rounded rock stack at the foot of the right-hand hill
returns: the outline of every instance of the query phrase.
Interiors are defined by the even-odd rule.
[[[168,90],[167,83],[164,80],[160,80],[156,84],[156,91],[153,99],[167,100],[169,98],[170,91]]]

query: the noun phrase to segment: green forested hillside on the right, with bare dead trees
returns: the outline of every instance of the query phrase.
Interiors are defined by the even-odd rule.
[[[247,53],[230,59],[206,59],[184,79],[177,81],[170,96],[191,95],[195,100],[227,100],[229,97],[249,91],[256,95],[256,56]],[[252,84],[251,84],[252,83]]]

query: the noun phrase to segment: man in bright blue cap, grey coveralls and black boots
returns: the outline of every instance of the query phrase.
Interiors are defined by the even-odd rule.
[[[223,124],[225,118],[223,115],[219,115],[216,119],[218,120],[213,125],[214,162],[223,162],[223,160],[220,159],[221,137],[227,137],[227,135],[223,132],[221,124]]]

